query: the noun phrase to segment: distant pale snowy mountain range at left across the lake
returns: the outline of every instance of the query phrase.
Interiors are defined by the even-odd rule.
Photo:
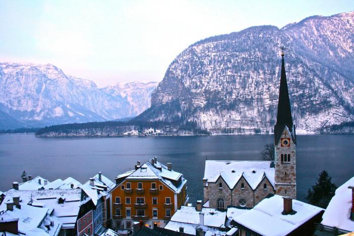
[[[147,109],[149,102],[142,100],[150,101],[154,86],[157,83],[128,83],[99,89],[51,64],[0,63],[0,111],[34,127],[115,120]]]

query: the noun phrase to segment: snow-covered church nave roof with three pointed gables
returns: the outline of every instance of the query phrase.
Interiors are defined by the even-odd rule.
[[[268,161],[205,161],[203,179],[215,182],[220,176],[231,189],[242,176],[252,189],[255,189],[264,177],[275,186],[275,168],[271,168],[271,162]]]

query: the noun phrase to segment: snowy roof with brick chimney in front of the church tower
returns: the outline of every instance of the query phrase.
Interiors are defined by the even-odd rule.
[[[253,209],[237,216],[234,220],[261,235],[287,235],[324,209],[292,200],[293,215],[283,215],[283,196],[274,195],[263,199]]]

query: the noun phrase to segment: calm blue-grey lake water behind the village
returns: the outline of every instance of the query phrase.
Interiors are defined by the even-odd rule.
[[[36,138],[32,134],[0,135],[0,190],[21,181],[22,171],[49,181],[69,176],[80,182],[98,171],[111,178],[134,168],[136,161],[172,163],[188,180],[190,202],[202,199],[205,159],[261,160],[264,144],[272,135],[205,137]],[[322,170],[343,184],[354,176],[354,135],[297,136],[297,199],[305,201],[307,189]]]

